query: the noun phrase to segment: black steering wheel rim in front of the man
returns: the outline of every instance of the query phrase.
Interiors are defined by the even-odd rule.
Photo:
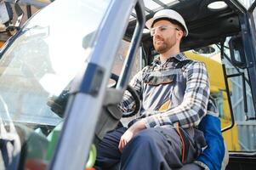
[[[117,84],[119,77],[116,74],[111,73],[111,79],[114,80],[116,82],[116,84]],[[116,84],[114,86],[112,86],[111,88],[115,88]],[[139,112],[139,110],[141,108],[141,102],[140,102],[140,99],[139,99],[139,95],[137,94],[135,89],[128,84],[127,91],[134,98],[134,102],[135,102],[134,111],[123,112],[122,113],[122,117],[134,116],[134,115],[136,115]]]

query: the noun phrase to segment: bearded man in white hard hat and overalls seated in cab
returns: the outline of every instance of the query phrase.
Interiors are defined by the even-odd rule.
[[[105,135],[97,146],[96,166],[111,169],[120,161],[121,169],[208,168],[208,152],[196,161],[206,146],[202,131],[196,127],[207,110],[216,112],[212,102],[208,104],[205,65],[180,53],[180,41],[189,32],[185,20],[174,10],[158,11],[146,26],[159,56],[130,82],[142,99],[140,116],[128,128]],[[134,100],[125,94],[122,111],[133,105]],[[221,134],[218,138],[223,142]],[[223,152],[218,156],[223,158]],[[197,164],[188,164],[193,161]],[[183,167],[185,164],[191,166]]]

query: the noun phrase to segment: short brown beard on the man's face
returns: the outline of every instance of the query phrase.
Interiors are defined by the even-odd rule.
[[[170,48],[174,47],[175,43],[176,39],[171,37],[167,39],[158,37],[156,38],[156,40],[153,40],[154,48],[156,49],[156,52],[159,54],[164,54],[168,52]]]

